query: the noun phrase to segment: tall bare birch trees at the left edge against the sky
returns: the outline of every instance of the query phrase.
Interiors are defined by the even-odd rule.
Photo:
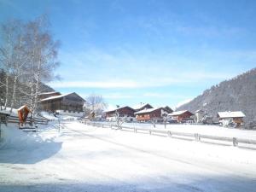
[[[0,28],[1,106],[17,108],[28,105],[38,109],[38,94],[51,90],[42,82],[55,79],[59,41],[49,32],[49,20],[10,20]]]

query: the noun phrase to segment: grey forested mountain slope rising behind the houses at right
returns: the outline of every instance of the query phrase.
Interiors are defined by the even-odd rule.
[[[187,109],[195,112],[203,109],[212,117],[220,111],[242,111],[246,114],[246,122],[256,119],[256,68],[226,80],[211,89],[205,90],[201,96],[177,110]]]

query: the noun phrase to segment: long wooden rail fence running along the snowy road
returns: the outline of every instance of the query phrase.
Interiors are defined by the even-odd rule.
[[[166,137],[178,137],[183,139],[190,139],[195,140],[196,142],[207,142],[207,141],[218,141],[218,142],[225,142],[225,143],[232,143],[234,147],[238,146],[239,143],[241,144],[250,144],[255,145],[256,147],[256,140],[252,139],[242,139],[237,137],[219,137],[219,136],[209,136],[199,133],[186,133],[186,132],[177,132],[177,131],[170,131],[170,130],[157,130],[157,129],[147,129],[147,128],[138,128],[138,127],[130,127],[130,126],[117,126],[117,125],[111,125],[111,124],[102,124],[98,122],[91,122],[91,121],[79,121],[82,124],[85,125],[92,125],[96,127],[102,127],[102,128],[119,128],[119,130],[128,130],[133,131],[135,133],[142,132],[143,133],[149,133],[149,134],[161,134]]]

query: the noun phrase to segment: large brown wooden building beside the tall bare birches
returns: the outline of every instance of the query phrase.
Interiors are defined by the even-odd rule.
[[[63,95],[57,94],[56,96],[49,96],[42,99],[40,104],[41,109],[44,111],[80,117],[83,115],[84,102],[85,100],[81,96],[73,92]]]

